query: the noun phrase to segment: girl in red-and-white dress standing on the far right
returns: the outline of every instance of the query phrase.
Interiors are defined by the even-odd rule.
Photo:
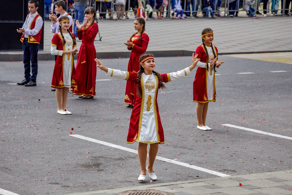
[[[215,72],[216,68],[224,62],[218,62],[218,49],[212,45],[214,40],[213,30],[205,28],[202,31],[202,42],[196,49],[198,62],[197,72],[193,83],[194,102],[197,104],[197,118],[199,130],[211,130],[206,125],[206,115],[209,101],[216,101]]]

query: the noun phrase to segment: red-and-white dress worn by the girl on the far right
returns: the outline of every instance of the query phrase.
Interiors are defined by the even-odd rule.
[[[206,103],[209,101],[216,101],[215,91],[215,71],[214,66],[210,67],[210,62],[215,58],[211,47],[206,47],[208,51],[205,51],[203,44],[197,47],[196,54],[197,59],[200,61],[197,63],[197,72],[193,82],[193,101],[199,103]],[[218,56],[217,47],[213,46],[216,56]],[[207,56],[209,55],[209,61],[207,62]],[[218,59],[216,60],[216,63]],[[207,70],[207,64],[209,70]]]

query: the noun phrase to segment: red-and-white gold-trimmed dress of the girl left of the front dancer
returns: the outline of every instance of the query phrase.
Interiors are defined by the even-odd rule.
[[[51,44],[51,54],[57,55],[51,87],[56,89],[76,87],[76,71],[74,67],[73,54],[71,52],[70,54],[62,55],[64,50],[76,49],[76,44],[73,44],[73,40],[69,33],[63,34],[63,36],[66,40],[65,45],[62,43],[62,36],[60,32],[54,34]],[[72,34],[72,36],[75,39],[75,35]],[[59,50],[56,49],[57,46]]]

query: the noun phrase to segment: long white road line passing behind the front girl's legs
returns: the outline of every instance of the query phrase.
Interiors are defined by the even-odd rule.
[[[128,151],[128,152],[132,152],[132,153],[138,154],[137,150],[133,150],[131,148],[126,148],[124,146],[111,144],[111,143],[108,143],[108,142],[105,142],[105,141],[92,139],[90,137],[85,137],[85,136],[78,135],[78,134],[74,134],[74,135],[70,135],[70,136],[77,137],[77,138],[84,139],[84,140],[87,140],[87,141],[92,141],[92,142],[95,142],[95,143],[98,143],[98,144],[102,144],[102,145],[106,145],[106,146],[110,146],[110,147],[113,147],[113,148],[117,148],[117,149],[121,149],[121,150],[125,150],[125,151]],[[147,156],[148,156],[148,154],[147,154]],[[168,158],[163,158],[163,157],[160,157],[160,156],[156,156],[156,159],[161,160],[161,161],[165,161],[165,162],[168,162],[168,163],[173,163],[173,164],[185,166],[185,167],[188,167],[188,168],[196,169],[196,170],[199,170],[199,171],[207,172],[207,173],[210,173],[210,174],[213,174],[213,175],[217,175],[217,176],[220,176],[220,177],[230,176],[230,175],[226,175],[224,173],[212,171],[212,170],[205,169],[205,168],[202,168],[202,167],[197,167],[197,166],[190,165],[190,164],[187,164],[187,163],[183,163],[183,162],[180,162],[180,161],[174,161],[174,160],[171,160],[171,159],[168,159]]]

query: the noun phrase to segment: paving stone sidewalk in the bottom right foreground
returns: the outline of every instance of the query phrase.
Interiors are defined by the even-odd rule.
[[[67,195],[107,195],[118,194],[130,190],[153,189],[176,195],[188,194],[220,194],[220,195],[280,195],[292,194],[292,170],[215,177],[192,181],[180,181],[161,184],[149,184],[119,189],[90,191]]]

